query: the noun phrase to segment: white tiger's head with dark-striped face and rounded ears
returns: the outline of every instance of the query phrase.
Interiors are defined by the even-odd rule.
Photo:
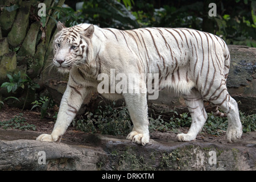
[[[80,67],[92,56],[93,24],[86,29],[80,26],[65,27],[57,23],[57,34],[53,40],[53,65],[59,72],[67,73],[74,67]]]

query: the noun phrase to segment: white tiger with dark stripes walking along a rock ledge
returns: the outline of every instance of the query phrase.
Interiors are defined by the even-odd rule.
[[[189,28],[122,31],[86,23],[67,28],[58,22],[57,29],[53,64],[60,72],[69,72],[69,80],[52,133],[42,134],[37,140],[60,140],[84,98],[97,90],[98,75],[110,75],[110,69],[114,69],[115,75],[158,73],[159,89],[175,90],[184,97],[192,124],[187,134],[177,135],[177,140],[194,140],[203,128],[207,120],[203,100],[226,113],[228,142],[241,138],[237,102],[226,88],[229,49],[218,36]],[[147,76],[138,80],[140,89],[147,89]],[[133,121],[133,131],[127,139],[142,145],[148,143],[147,94],[102,93],[102,96],[114,100],[125,98]],[[217,110],[216,113],[219,114]]]

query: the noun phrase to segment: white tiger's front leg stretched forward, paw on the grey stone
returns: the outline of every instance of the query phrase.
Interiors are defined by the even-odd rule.
[[[70,80],[70,79],[69,79]],[[42,134],[36,140],[46,142],[60,142],[62,135],[79,111],[88,90],[82,86],[71,85],[68,81],[67,89],[61,99],[57,121],[51,134]]]

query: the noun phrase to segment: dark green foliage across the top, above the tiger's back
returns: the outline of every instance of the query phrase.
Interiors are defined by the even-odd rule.
[[[57,18],[74,26],[92,23],[100,27],[188,27],[220,36],[228,44],[256,47],[256,2],[213,1],[217,16],[210,17],[212,1],[89,0],[79,10],[59,9]]]

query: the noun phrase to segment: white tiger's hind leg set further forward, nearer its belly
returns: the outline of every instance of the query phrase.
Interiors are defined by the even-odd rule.
[[[192,123],[187,134],[181,133],[177,135],[180,142],[191,141],[196,139],[196,135],[202,130],[207,113],[204,109],[203,97],[198,90],[192,89],[191,94],[184,96],[185,104],[188,106],[191,114]]]

